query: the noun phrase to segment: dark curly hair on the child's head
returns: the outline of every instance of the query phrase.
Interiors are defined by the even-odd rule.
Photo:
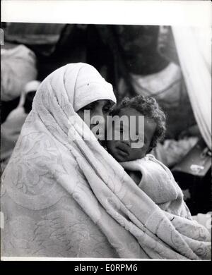
[[[143,116],[153,119],[157,124],[155,133],[150,143],[150,150],[153,149],[160,140],[163,140],[166,130],[166,117],[158,102],[153,97],[143,97],[138,95],[136,97],[124,97],[122,102],[112,109],[112,116],[119,114],[119,111],[123,108],[130,107],[139,111]]]

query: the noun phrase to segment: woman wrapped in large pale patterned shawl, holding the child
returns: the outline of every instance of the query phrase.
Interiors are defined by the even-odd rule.
[[[2,176],[2,256],[211,257],[206,228],[163,212],[83,123],[100,116],[99,136],[115,101],[85,63],[42,82]]]

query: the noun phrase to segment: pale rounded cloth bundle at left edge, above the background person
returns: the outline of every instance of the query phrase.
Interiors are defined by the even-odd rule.
[[[36,57],[23,44],[1,47],[1,123],[18,105],[25,84],[37,78]]]

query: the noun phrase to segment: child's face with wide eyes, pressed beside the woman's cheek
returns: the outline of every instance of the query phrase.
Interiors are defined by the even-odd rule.
[[[128,119],[130,120],[131,116],[136,116],[136,135],[140,135],[142,133],[139,133],[139,130],[141,131],[141,127],[139,128],[139,116],[142,116],[139,111],[136,111],[133,108],[126,107],[123,108],[119,111],[118,114],[119,117],[121,116],[127,116]],[[107,150],[112,154],[112,157],[114,159],[117,159],[117,161],[132,161],[135,159],[141,159],[146,155],[148,152],[149,145],[151,143],[151,140],[153,138],[153,135],[155,133],[155,128],[156,128],[156,123],[153,121],[153,119],[144,117],[144,145],[141,148],[133,148],[131,147],[131,144],[135,142],[135,140],[130,139],[130,134],[129,134],[129,140],[124,140],[123,139],[123,128],[124,125],[121,124],[120,126],[120,140],[107,140]],[[130,125],[128,127],[128,131],[130,130]],[[114,125],[111,128],[112,133],[114,133]],[[126,130],[126,129],[125,129]]]

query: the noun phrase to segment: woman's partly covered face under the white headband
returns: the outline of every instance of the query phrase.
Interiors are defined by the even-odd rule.
[[[103,140],[101,139],[105,140],[107,116],[109,115],[113,105],[114,102],[107,99],[102,99],[91,102],[77,111],[77,114],[83,119],[83,121],[87,124],[89,123],[90,130],[93,130],[94,127],[96,128],[96,126],[98,126],[98,129],[100,130],[98,132],[93,131],[93,133],[96,135],[101,144],[103,144]],[[98,117],[100,117],[100,121],[97,120]],[[104,137],[100,137],[99,133],[104,133]]]

